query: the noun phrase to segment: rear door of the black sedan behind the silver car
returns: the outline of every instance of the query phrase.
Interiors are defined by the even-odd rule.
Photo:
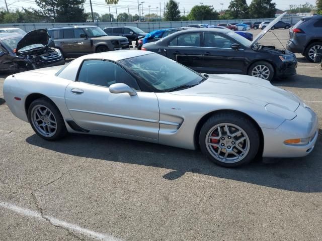
[[[200,46],[199,32],[180,34],[169,42],[166,55],[191,69],[201,71],[203,69],[204,51]]]

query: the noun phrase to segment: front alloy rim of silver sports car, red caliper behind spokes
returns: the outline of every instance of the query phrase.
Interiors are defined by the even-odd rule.
[[[223,163],[243,160],[250,150],[250,139],[240,127],[231,123],[221,123],[212,127],[206,135],[209,154]]]

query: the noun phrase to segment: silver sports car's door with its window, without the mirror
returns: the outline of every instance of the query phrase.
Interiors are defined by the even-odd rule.
[[[109,91],[111,84],[121,82],[136,89],[137,95]],[[155,93],[141,92],[135,78],[114,62],[85,60],[77,81],[65,90],[65,101],[74,121],[85,129],[158,138]]]

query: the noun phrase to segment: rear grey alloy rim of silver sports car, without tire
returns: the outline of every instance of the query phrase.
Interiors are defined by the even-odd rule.
[[[37,132],[44,137],[52,137],[57,131],[57,121],[52,111],[42,104],[31,110],[31,122]]]

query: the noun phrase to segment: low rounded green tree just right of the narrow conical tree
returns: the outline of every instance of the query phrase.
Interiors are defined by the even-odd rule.
[[[216,20],[218,19],[218,12],[213,7],[208,5],[195,5],[187,18],[189,20]]]

